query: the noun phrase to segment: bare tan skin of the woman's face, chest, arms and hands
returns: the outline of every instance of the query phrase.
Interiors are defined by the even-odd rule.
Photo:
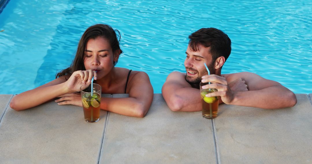
[[[72,75],[61,76],[36,89],[20,93],[12,98],[10,106],[20,111],[58,97],[55,100],[58,105],[72,104],[82,107],[80,93],[77,92],[81,85],[90,84],[93,76],[96,83],[101,85],[102,93],[124,93],[129,70],[113,66],[113,61],[118,58],[119,50],[113,52],[105,38],[90,39],[84,60],[86,71],[75,71]],[[100,107],[126,116],[144,117],[152,103],[153,92],[149,76],[145,72],[132,71],[126,90],[129,98],[103,97]]]

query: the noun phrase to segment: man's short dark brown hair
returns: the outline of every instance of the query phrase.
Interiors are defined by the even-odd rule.
[[[210,47],[212,61],[218,57],[224,56],[225,61],[231,53],[231,39],[216,28],[202,28],[188,36],[190,39],[188,45],[192,51],[198,50],[198,45]]]

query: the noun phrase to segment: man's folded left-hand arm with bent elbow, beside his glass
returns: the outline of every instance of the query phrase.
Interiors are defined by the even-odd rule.
[[[185,80],[185,74],[172,72],[163,84],[162,95],[172,111],[201,111],[199,88],[192,88]]]

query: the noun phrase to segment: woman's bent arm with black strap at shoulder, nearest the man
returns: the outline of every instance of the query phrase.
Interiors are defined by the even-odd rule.
[[[129,98],[101,98],[101,109],[126,116],[144,117],[154,96],[149,76],[145,72],[137,73],[128,87]]]

